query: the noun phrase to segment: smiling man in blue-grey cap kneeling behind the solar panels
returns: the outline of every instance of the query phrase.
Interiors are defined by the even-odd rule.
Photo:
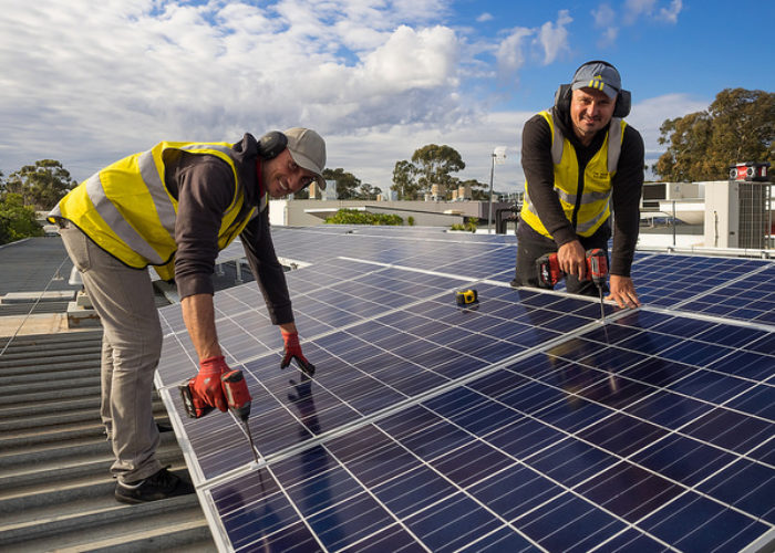
[[[621,307],[640,305],[630,267],[639,231],[643,139],[621,117],[630,111],[611,64],[581,65],[561,85],[551,109],[523,129],[525,201],[517,226],[515,286],[538,286],[536,260],[557,252],[568,292],[598,295],[586,280],[587,250],[608,254],[613,208],[610,295]],[[610,204],[609,204],[610,200]]]

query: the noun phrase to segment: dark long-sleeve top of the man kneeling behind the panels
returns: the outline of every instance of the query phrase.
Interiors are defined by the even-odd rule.
[[[600,149],[608,128],[599,131],[589,146],[583,146],[570,127],[568,114],[559,117],[561,132],[576,150],[579,164],[579,192],[582,189],[583,171],[592,156]],[[640,221],[640,197],[643,188],[643,139],[630,125],[624,128],[621,155],[617,173],[611,180],[611,207],[613,209],[613,248],[611,274],[630,275],[632,258],[638,242]],[[557,246],[577,239],[576,230],[562,211],[555,191],[555,173],[551,160],[551,128],[537,114],[523,129],[523,169],[527,179],[530,201],[544,227],[551,233]]]

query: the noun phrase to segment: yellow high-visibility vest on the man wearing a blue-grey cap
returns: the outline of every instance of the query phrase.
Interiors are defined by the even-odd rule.
[[[554,119],[554,111],[540,112],[551,128],[551,160],[555,168],[555,191],[560,200],[565,216],[574,221],[578,199],[579,164],[576,149],[562,135]],[[621,142],[624,136],[624,123],[612,118],[600,149],[592,156],[583,171],[583,191],[576,212],[576,233],[590,237],[610,216],[611,179],[617,173]],[[536,232],[552,238],[546,229],[535,206],[530,201],[530,184],[525,182],[525,201],[519,217]]]

